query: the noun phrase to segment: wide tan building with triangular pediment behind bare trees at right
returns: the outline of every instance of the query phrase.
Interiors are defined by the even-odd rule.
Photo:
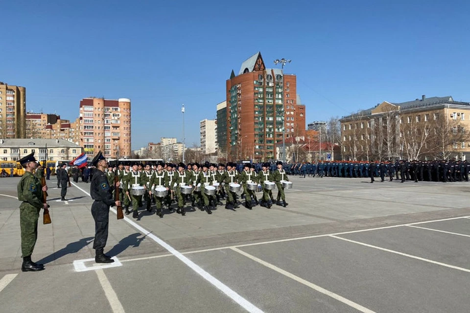
[[[451,96],[384,101],[340,120],[342,155],[351,160],[466,159],[469,115],[470,103]]]

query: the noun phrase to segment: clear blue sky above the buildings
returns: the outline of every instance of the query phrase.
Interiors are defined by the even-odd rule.
[[[470,1],[4,1],[0,81],[27,109],[78,116],[79,100],[132,100],[132,147],[199,144],[232,69],[292,59],[307,123],[452,95],[470,101]]]

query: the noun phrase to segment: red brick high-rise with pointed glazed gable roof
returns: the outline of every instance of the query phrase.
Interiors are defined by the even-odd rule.
[[[227,152],[232,159],[281,158],[276,144],[305,136],[305,105],[298,103],[297,78],[266,68],[258,52],[227,80]],[[300,100],[299,100],[300,102]]]

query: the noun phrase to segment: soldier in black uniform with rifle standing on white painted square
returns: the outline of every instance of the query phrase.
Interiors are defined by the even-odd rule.
[[[113,263],[114,260],[105,255],[103,250],[108,241],[109,207],[119,206],[120,201],[114,201],[113,199],[113,189],[108,183],[106,174],[104,174],[108,167],[108,162],[101,154],[101,151],[94,157],[92,164],[96,166],[92,183],[90,184],[90,195],[94,200],[92,204],[94,219],[93,248],[96,251],[94,261],[96,263]]]

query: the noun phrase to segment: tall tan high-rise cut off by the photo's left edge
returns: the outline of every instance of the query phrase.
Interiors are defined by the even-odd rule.
[[[0,137],[26,138],[26,88],[0,82]]]

